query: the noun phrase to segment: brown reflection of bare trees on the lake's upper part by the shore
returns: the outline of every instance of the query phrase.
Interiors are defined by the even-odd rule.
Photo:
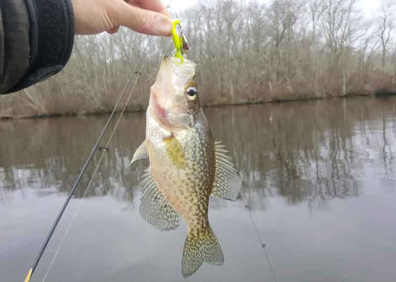
[[[204,109],[217,140],[231,152],[251,208],[266,209],[267,197],[327,208],[335,198],[358,197],[366,165],[395,179],[396,98],[353,98]],[[0,202],[11,191],[67,193],[106,117],[62,117],[0,122]],[[145,135],[145,115],[127,114],[87,197],[129,201],[140,189],[147,161],[129,166]],[[106,136],[104,137],[106,140]],[[380,150],[378,148],[381,148]],[[99,154],[75,197],[82,197]],[[140,193],[140,192],[139,192]],[[211,207],[227,202],[213,199]]]

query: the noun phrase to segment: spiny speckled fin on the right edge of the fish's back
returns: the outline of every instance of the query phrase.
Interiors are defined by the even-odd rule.
[[[224,150],[225,146],[221,142],[214,142],[216,170],[213,182],[213,190],[210,196],[223,198],[227,200],[236,200],[241,191],[242,180],[237,174],[228,151]]]

